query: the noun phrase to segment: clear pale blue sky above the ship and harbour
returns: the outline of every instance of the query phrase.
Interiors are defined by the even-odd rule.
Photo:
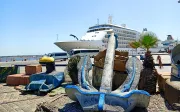
[[[165,40],[180,37],[178,0],[0,0],[0,55],[59,52],[53,43],[81,38],[89,26],[126,24],[142,31],[147,28]],[[180,38],[179,38],[180,39]]]

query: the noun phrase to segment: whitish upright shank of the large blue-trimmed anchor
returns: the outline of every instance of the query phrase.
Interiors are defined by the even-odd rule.
[[[109,93],[112,90],[115,44],[115,36],[112,32],[108,40],[100,92]]]

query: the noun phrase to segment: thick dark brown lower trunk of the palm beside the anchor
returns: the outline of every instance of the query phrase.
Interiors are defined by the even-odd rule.
[[[144,68],[140,74],[139,90],[145,90],[150,94],[156,93],[157,71],[156,69]]]

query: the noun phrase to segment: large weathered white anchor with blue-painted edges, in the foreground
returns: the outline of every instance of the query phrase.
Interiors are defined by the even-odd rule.
[[[99,90],[92,86],[89,70],[92,63],[88,56],[78,64],[79,85],[68,85],[65,88],[68,97],[78,101],[84,111],[131,111],[135,106],[146,108],[149,105],[150,94],[143,90],[136,90],[142,64],[138,58],[132,56],[126,63],[128,76],[124,83],[112,91],[112,78],[117,36],[111,32],[105,57],[101,87]]]

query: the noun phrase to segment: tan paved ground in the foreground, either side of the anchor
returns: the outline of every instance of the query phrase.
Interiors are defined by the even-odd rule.
[[[6,89],[10,89],[10,90],[6,90]],[[6,101],[6,104],[2,104],[3,101]],[[49,97],[49,95],[46,96],[37,96],[33,94],[21,95],[21,93],[15,90],[13,87],[0,86],[0,112],[34,112],[37,104],[42,102],[51,102],[51,101],[52,101],[52,105],[57,106],[61,110],[70,109],[69,111],[71,112],[73,111],[72,108],[74,108],[74,110],[78,110],[79,108],[81,108],[79,104],[72,103],[73,101],[64,94],[58,94],[53,97]],[[147,111],[148,112],[178,112],[178,111],[173,111],[172,108],[169,107],[168,103],[165,102],[164,97],[161,94],[151,96]]]

